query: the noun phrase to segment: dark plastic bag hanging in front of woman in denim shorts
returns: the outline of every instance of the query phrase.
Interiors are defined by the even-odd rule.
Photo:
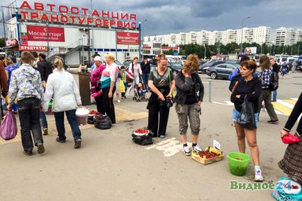
[[[241,113],[237,123],[246,129],[257,129],[254,118],[254,105],[252,102],[248,102],[248,97],[246,96],[244,96],[244,103],[241,105]]]

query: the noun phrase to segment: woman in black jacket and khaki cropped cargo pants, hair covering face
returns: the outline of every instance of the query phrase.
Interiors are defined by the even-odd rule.
[[[184,154],[190,156],[191,152],[186,144],[186,130],[188,129],[188,118],[192,135],[192,150],[201,152],[197,145],[200,131],[200,104],[204,95],[202,81],[197,73],[199,68],[198,57],[190,54],[184,63],[182,70],[175,76],[177,94],[175,96],[175,111],[180,123],[180,135]]]

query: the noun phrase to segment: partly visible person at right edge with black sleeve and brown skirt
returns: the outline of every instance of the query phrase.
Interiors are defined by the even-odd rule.
[[[285,127],[280,131],[281,137],[289,134],[289,131],[294,127],[301,113],[302,93],[294,105],[294,109],[289,115]],[[302,184],[302,118],[299,120],[295,136],[299,138],[299,143],[292,143],[287,146],[284,157],[278,165],[289,177],[297,179]]]

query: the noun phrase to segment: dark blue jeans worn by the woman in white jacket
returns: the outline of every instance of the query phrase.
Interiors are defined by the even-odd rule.
[[[76,110],[65,111],[68,123],[70,124],[72,130],[72,136],[74,138],[74,141],[77,139],[81,139],[81,131],[79,129],[79,124],[76,120],[75,111]],[[56,130],[58,131],[58,138],[60,140],[65,140],[66,136],[64,126],[64,111],[54,113],[54,118],[56,120]]]

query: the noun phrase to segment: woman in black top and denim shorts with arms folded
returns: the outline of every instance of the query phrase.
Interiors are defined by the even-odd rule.
[[[255,182],[262,182],[262,172],[260,170],[260,156],[259,148],[257,146],[256,139],[256,129],[248,129],[237,123],[241,112],[241,105],[244,103],[244,97],[247,97],[248,102],[252,102],[254,106],[254,118],[256,127],[258,124],[258,113],[257,109],[259,107],[259,97],[261,93],[261,81],[258,78],[253,77],[253,72],[255,72],[257,65],[254,61],[244,61],[241,63],[241,77],[237,87],[231,95],[231,102],[235,104],[235,109],[233,111],[232,120],[235,122],[235,129],[237,132],[237,143],[239,147],[239,152],[246,152],[246,139],[248,141],[248,146],[251,150],[251,155],[253,163],[255,165]],[[246,138],[246,139],[245,139]]]

